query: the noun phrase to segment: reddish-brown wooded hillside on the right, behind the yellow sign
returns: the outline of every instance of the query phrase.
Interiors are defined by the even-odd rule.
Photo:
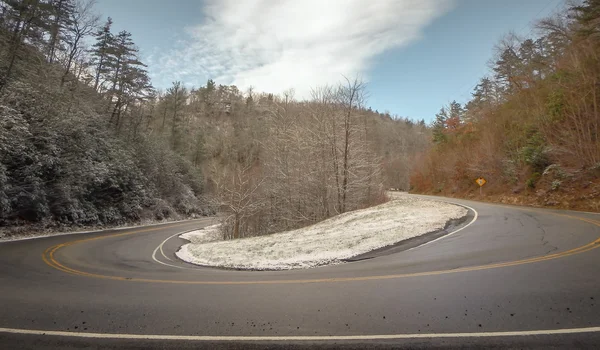
[[[600,1],[497,45],[465,105],[445,106],[413,191],[600,210]]]

